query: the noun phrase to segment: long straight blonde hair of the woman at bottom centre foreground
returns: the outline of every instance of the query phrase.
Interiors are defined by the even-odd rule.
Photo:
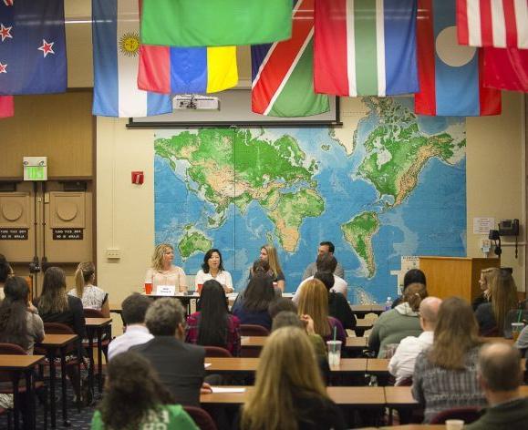
[[[326,397],[326,389],[308,336],[300,328],[283,327],[264,345],[241,428],[296,429],[294,397],[299,394]]]

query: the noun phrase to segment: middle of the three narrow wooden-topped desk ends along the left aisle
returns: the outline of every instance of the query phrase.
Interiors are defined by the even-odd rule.
[[[67,345],[78,339],[77,334],[46,334],[41,343],[37,343],[37,348],[46,350],[47,361],[49,362],[49,409],[51,415],[51,426],[57,426],[57,405],[55,401],[55,358],[57,349],[60,351],[60,384],[62,388],[62,422],[66,426],[67,421],[67,388],[66,388],[66,350]],[[79,376],[80,392],[80,376]]]

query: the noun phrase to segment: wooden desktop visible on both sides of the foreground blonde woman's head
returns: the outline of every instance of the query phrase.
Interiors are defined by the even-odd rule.
[[[239,386],[245,388],[243,393],[212,393],[201,394],[201,404],[243,404],[253,386]],[[383,388],[377,386],[329,386],[326,387],[326,393],[336,403],[341,406],[383,406],[385,405],[385,393]]]

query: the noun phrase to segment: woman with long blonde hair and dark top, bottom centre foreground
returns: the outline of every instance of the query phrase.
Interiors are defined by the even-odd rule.
[[[243,405],[238,428],[340,430],[347,425],[328,398],[316,354],[303,331],[284,327],[264,345],[254,390]]]

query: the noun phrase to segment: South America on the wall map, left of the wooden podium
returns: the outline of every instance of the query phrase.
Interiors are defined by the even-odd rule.
[[[362,212],[352,220],[341,225],[345,240],[356,251],[359,261],[366,268],[368,278],[376,273],[376,261],[372,249],[372,237],[379,230],[379,219],[376,212]]]

